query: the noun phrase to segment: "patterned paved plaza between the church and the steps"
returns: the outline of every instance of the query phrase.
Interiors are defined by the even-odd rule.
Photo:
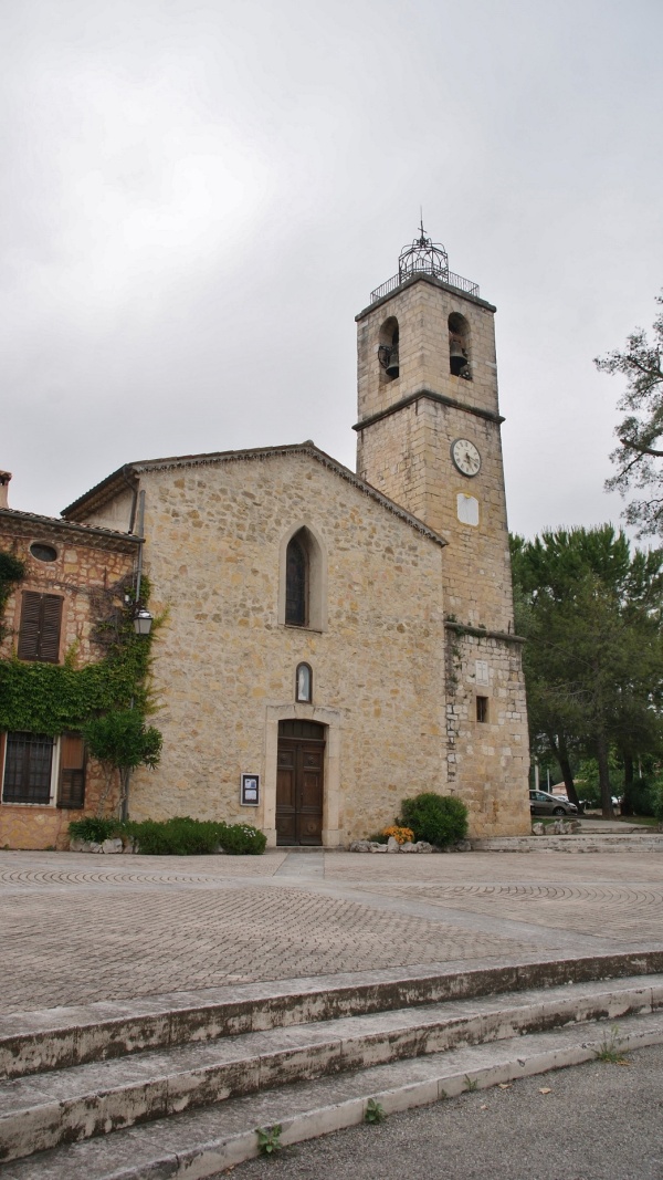
[[[615,852],[0,852],[0,1012],[396,966],[663,949],[663,845]]]

